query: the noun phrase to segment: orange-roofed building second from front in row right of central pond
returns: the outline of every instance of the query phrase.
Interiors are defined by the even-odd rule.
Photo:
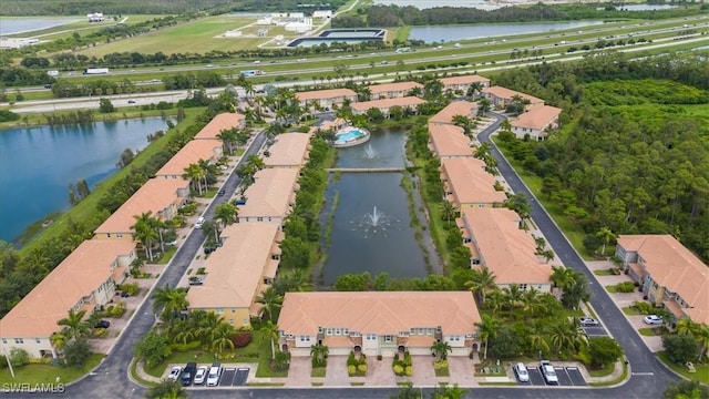
[[[479,207],[502,207],[507,195],[496,191],[495,176],[485,162],[472,156],[441,160],[441,181],[446,200],[460,212]]]

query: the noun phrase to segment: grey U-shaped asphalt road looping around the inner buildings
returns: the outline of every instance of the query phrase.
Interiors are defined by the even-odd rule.
[[[496,122],[480,133],[481,142],[489,141],[490,134],[499,129],[504,116],[494,114]],[[259,133],[242,160],[249,154],[256,153],[265,141],[265,135]],[[491,144],[493,144],[491,142]],[[599,318],[604,321],[607,330],[625,349],[625,354],[630,364],[631,377],[623,386],[615,388],[497,388],[480,387],[475,388],[467,397],[485,398],[515,398],[515,399],[607,399],[607,398],[657,398],[661,396],[667,385],[678,380],[674,374],[665,368],[647,348],[638,332],[630,326],[623,313],[616,307],[603,287],[597,284],[595,276],[588,272],[583,259],[571,246],[566,237],[551,219],[548,214],[534,200],[521,178],[512,170],[507,161],[501,155],[495,145],[492,145],[492,153],[499,161],[500,173],[507,181],[515,193],[524,193],[530,198],[532,206],[532,217],[538,228],[544,233],[546,241],[556,250],[566,267],[571,267],[586,275],[589,280],[592,293],[590,304]],[[224,188],[232,193],[239,183],[236,173],[233,173],[224,185]],[[214,202],[205,212],[205,217],[209,218],[214,214],[217,204],[226,201],[228,196],[215,197]],[[169,267],[158,280],[158,286],[176,286],[184,275],[195,253],[204,242],[204,234],[201,229],[193,231],[185,243],[179,247]],[[152,311],[153,300],[147,298],[134,314],[133,320],[125,328],[117,342],[99,366],[99,368],[84,379],[66,387],[68,397],[93,397],[93,398],[143,398],[145,389],[135,385],[129,378],[129,367],[133,358],[135,342],[145,335],[155,323],[155,315]],[[397,388],[366,388],[366,387],[340,387],[340,388],[302,388],[302,389],[199,389],[191,390],[191,398],[288,398],[288,399],[366,399],[366,398],[388,398],[395,393]],[[423,389],[429,392],[430,389]],[[11,397],[6,395],[3,397]],[[14,395],[22,397],[22,395]],[[52,398],[55,395],[33,393],[33,398]]]

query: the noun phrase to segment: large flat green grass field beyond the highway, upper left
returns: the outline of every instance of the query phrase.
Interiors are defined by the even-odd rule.
[[[109,44],[82,50],[84,55],[101,57],[113,52],[140,52],[153,54],[162,51],[172,53],[205,53],[212,50],[237,51],[255,49],[270,38],[218,38],[226,31],[238,30],[255,22],[255,19],[236,18],[229,16],[207,17],[189,21],[176,27],[161,29],[130,40],[119,40]],[[256,28],[256,27],[255,27]],[[269,28],[269,34],[277,33],[278,29]],[[257,28],[255,29],[258,30]],[[280,28],[282,30],[282,28]],[[284,30],[285,32],[285,30]],[[245,32],[246,34],[246,32]]]

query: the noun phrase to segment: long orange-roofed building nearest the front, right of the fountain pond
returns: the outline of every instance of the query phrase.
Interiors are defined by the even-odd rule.
[[[522,219],[507,208],[470,208],[456,221],[463,243],[471,249],[471,266],[486,266],[500,288],[552,290],[552,266],[535,255],[534,237],[522,229]]]

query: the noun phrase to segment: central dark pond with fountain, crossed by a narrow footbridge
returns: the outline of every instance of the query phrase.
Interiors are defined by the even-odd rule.
[[[403,129],[374,130],[367,144],[339,149],[337,167],[377,168],[405,165]],[[401,173],[347,173],[330,175],[325,227],[335,197],[328,259],[322,283],[331,285],[343,274],[382,272],[394,278],[425,277],[427,264],[410,227],[407,193]],[[337,193],[337,194],[336,194]]]

